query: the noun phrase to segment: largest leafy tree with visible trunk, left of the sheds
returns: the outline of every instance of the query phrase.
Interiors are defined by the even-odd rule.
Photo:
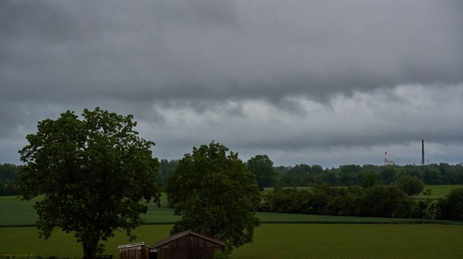
[[[100,240],[114,230],[135,238],[131,230],[143,222],[146,203],[159,204],[159,162],[152,158],[154,142],[133,130],[133,116],[100,108],[82,116],[67,111],[38,123],[20,151],[27,165],[18,181],[23,200],[41,195],[34,206],[40,236],[48,239],[55,228],[74,232],[83,258],[95,258],[103,251]]]

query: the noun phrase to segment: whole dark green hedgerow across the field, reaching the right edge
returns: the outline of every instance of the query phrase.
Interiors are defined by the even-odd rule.
[[[438,200],[411,200],[396,184],[368,188],[328,185],[311,190],[276,188],[262,195],[259,211],[334,216],[463,220],[463,188]]]

